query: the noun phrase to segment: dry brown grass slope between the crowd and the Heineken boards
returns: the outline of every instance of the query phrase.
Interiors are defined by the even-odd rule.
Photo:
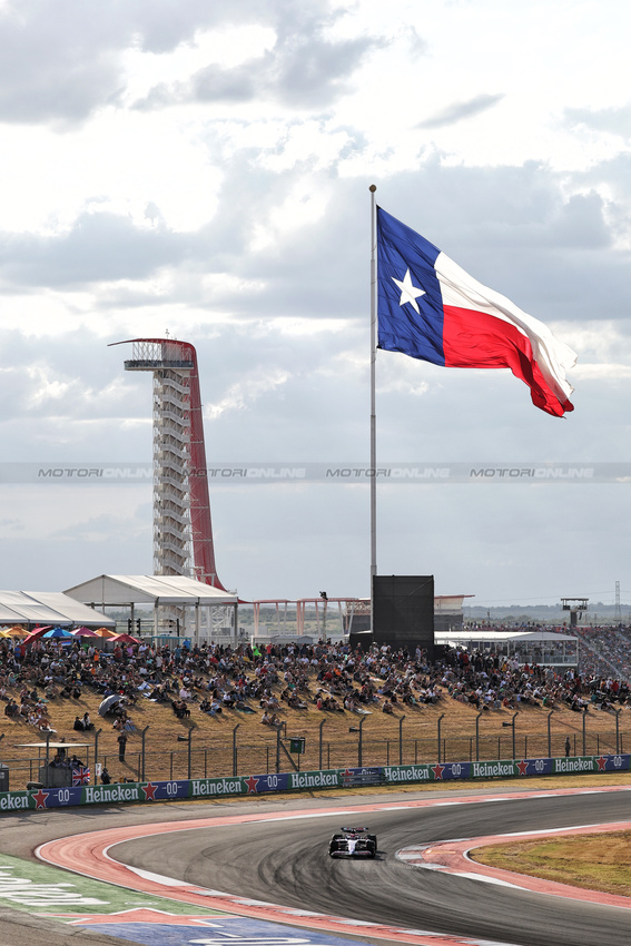
[[[312,687],[313,689],[313,687]],[[14,692],[18,697],[18,692]],[[235,762],[239,775],[262,773],[276,769],[277,732],[263,726],[262,711],[252,703],[254,713],[225,709],[209,717],[190,703],[190,718],[178,719],[170,704],[140,698],[129,708],[135,731],[128,733],[126,759],[118,760],[117,736],[111,718],[98,716],[101,697],[83,690],[79,699],[56,699],[48,704],[51,741],[85,742],[77,755],[88,763],[95,759],[106,762],[114,779],[136,780],[142,773],[141,753],[145,743],[145,777],[147,779],[186,778],[230,775]],[[86,710],[98,732],[73,731],[77,716]],[[513,710],[492,709],[479,715],[473,707],[443,696],[436,704],[405,707],[393,716],[378,706],[371,715],[323,712],[308,702],[307,709],[289,709],[282,704],[278,715],[285,737],[304,736],[306,753],[299,757],[300,769],[344,767],[377,763],[465,761],[470,759],[520,759],[564,753],[570,737],[571,753],[600,755],[617,751],[617,718],[612,712],[590,709],[586,713],[558,707],[552,715],[545,708],[522,706]],[[514,727],[514,731],[513,731]],[[359,732],[359,729],[362,730]],[[440,735],[440,750],[438,750]],[[39,761],[45,749],[23,743],[46,741],[46,736],[22,721],[0,716],[0,760],[9,766],[10,788],[24,788],[37,781]],[[322,742],[321,742],[322,737]],[[361,746],[359,746],[361,737]],[[550,741],[550,745],[549,745]],[[95,742],[97,743],[95,746]],[[234,749],[236,748],[236,753]],[[631,709],[618,717],[618,751],[631,750]],[[298,761],[297,756],[292,757]],[[290,762],[280,750],[280,770]]]

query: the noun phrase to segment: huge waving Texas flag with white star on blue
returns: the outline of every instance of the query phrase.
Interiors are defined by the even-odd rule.
[[[379,348],[446,367],[510,368],[542,411],[574,410],[565,372],[575,353],[381,207],[377,264]]]

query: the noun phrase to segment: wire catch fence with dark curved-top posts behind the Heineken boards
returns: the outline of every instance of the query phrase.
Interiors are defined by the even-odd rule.
[[[78,750],[68,743],[68,755],[77,751],[83,765],[90,769],[90,781],[95,784],[98,767],[107,767],[112,780],[141,782],[147,779],[178,780],[208,779],[248,776],[250,772],[265,775],[282,771],[323,771],[343,769],[348,766],[390,767],[425,763],[463,763],[496,759],[522,760],[529,758],[621,756],[629,736],[620,732],[620,710],[611,717],[608,731],[590,732],[590,716],[581,713],[580,729],[571,735],[565,730],[554,731],[553,712],[546,715],[541,731],[520,732],[519,713],[501,723],[494,719],[496,731],[483,732],[483,713],[472,721],[471,732],[450,733],[443,717],[435,720],[432,735],[424,738],[411,738],[405,732],[405,717],[393,718],[394,735],[391,739],[371,738],[364,730],[368,717],[361,717],[349,727],[347,739],[326,739],[323,719],[315,736],[302,737],[287,735],[286,725],[277,730],[265,732],[256,743],[239,742],[239,726],[235,726],[224,745],[203,745],[194,727],[184,728],[175,743],[169,748],[164,739],[157,745],[151,739],[150,727],[128,733],[125,759],[119,760],[117,732],[110,729],[81,733],[78,742],[86,743]],[[484,715],[485,716],[485,715]],[[608,717],[610,719],[610,717]],[[602,720],[601,720],[602,722]],[[107,723],[103,723],[106,726]],[[569,739],[569,745],[568,740]],[[47,739],[55,740],[55,736]],[[4,748],[0,742],[0,752]],[[296,751],[303,750],[303,751]],[[51,770],[46,765],[55,756],[55,750],[41,748],[37,757],[29,759],[7,758],[2,753],[0,763],[0,791],[9,788],[49,787],[59,785],[52,781]],[[97,766],[98,763],[98,766]],[[55,773],[53,773],[55,775]]]

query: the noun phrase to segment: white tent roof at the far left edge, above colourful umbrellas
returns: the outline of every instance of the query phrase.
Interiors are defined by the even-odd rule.
[[[109,628],[116,621],[60,591],[0,591],[0,624]]]

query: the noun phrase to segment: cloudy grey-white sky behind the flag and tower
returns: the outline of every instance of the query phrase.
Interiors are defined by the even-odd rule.
[[[378,571],[631,599],[630,486],[598,466],[631,471],[630,35],[625,0],[0,0],[1,585],[151,571],[150,485],[29,473],[150,461],[114,342],[197,347],[210,465],[368,464],[374,183],[579,355],[558,420],[507,372],[378,353],[378,465],[595,464],[385,483]],[[210,502],[243,598],[368,593],[365,483]]]

